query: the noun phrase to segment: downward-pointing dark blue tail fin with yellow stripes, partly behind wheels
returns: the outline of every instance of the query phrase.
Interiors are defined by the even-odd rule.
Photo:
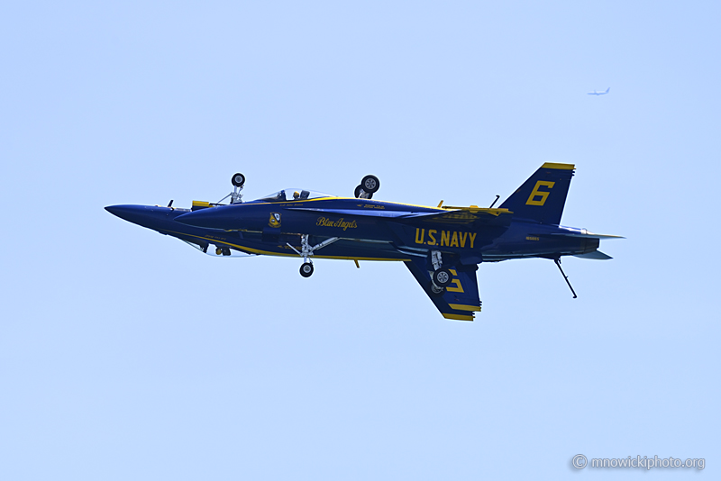
[[[446,287],[443,295],[434,295],[431,291],[431,274],[426,266],[426,260],[414,258],[406,260],[404,264],[443,317],[456,321],[473,321],[473,313],[480,311],[477,266],[458,266],[449,269],[453,275],[451,285]]]

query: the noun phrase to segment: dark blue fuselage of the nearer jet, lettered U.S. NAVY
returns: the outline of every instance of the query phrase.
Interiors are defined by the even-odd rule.
[[[233,249],[269,255],[293,255],[287,244],[297,245],[303,234],[316,242],[337,237],[339,242],[315,257],[407,259],[409,255],[443,250],[464,264],[576,255],[598,248],[596,239],[569,235],[579,229],[522,219],[507,224],[464,223],[462,219],[459,222],[448,218],[452,213],[462,217],[463,211],[343,197],[253,201],[183,212],[177,221],[175,210],[167,216],[173,222],[162,231],[199,236],[205,241],[224,242]]]

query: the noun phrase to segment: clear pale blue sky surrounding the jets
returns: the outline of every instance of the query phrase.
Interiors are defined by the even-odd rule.
[[[720,13],[5,3],[0,477],[717,476]],[[481,265],[472,323],[401,264],[304,279],[103,209],[217,201],[236,171],[246,198],[372,173],[487,205],[547,161],[577,166],[565,225],[627,239],[564,262],[575,300],[550,261]]]

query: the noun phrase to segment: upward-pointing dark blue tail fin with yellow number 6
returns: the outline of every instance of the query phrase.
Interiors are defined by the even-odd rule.
[[[574,168],[573,164],[546,162],[501,204],[501,208],[513,212],[514,218],[561,223]]]

